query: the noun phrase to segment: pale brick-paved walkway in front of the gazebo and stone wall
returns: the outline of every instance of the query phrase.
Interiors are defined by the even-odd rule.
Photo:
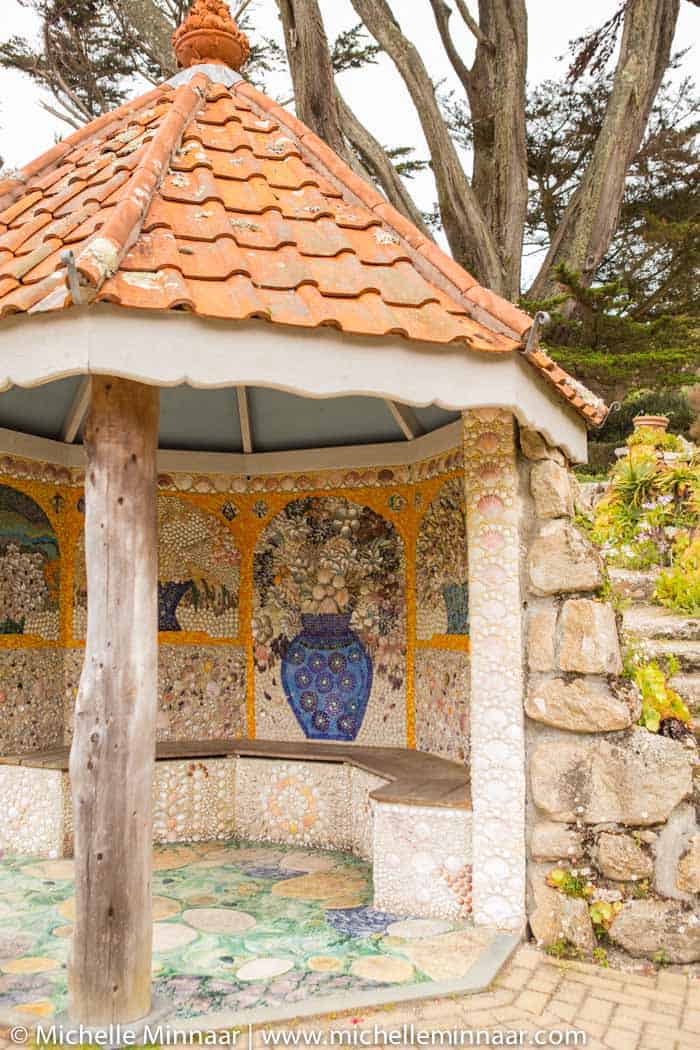
[[[405,1030],[403,1026],[413,1026],[413,1030]],[[343,1014],[337,1018],[304,1022],[297,1027],[300,1035],[302,1032],[307,1035],[327,1033],[328,1029],[348,1029],[354,1033],[352,1046],[381,1047],[382,1050],[386,1046],[427,1046],[430,1044],[425,1038],[421,1041],[421,1033],[445,1029],[522,1031],[526,1033],[524,1046],[698,1050],[700,980],[665,971],[654,976],[638,976],[586,963],[559,962],[534,948],[523,947],[492,989],[481,995],[426,1000],[398,1008],[363,1011],[358,1016]],[[568,1031],[585,1032],[586,1043],[580,1036],[578,1042],[570,1040],[567,1043],[558,1034],[553,1042],[548,1042],[547,1035],[538,1035],[535,1040],[535,1033]],[[381,1035],[391,1032],[397,1033],[391,1042]],[[0,1030],[0,1050],[13,1048],[8,1035],[6,1030]],[[256,1048],[270,1045],[263,1035],[262,1031],[254,1033]],[[285,1045],[292,1044],[287,1042]],[[311,1040],[300,1040],[298,1045],[312,1044]],[[441,1044],[436,1040],[432,1045]],[[446,1042],[443,1045],[448,1046]],[[470,1044],[464,1040],[462,1045]],[[486,1044],[482,1041],[479,1045]],[[494,1041],[494,1045],[516,1044],[504,1038],[500,1044]],[[238,1046],[246,1050],[243,1036]]]

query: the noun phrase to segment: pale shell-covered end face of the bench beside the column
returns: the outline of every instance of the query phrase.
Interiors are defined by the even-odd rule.
[[[375,803],[375,906],[436,919],[471,914],[471,813]]]

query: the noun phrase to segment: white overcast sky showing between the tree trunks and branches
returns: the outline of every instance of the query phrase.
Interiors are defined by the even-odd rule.
[[[618,2],[529,0],[530,85],[566,72],[569,41],[602,24],[617,9]],[[0,0],[0,3],[3,14],[0,39],[14,34],[36,36],[37,20],[18,0]],[[349,0],[320,0],[320,3],[330,39],[335,39],[339,32],[357,23],[358,18]],[[390,0],[390,3],[404,33],[418,45],[433,80],[444,80],[445,88],[457,86],[458,81],[442,49],[428,0]],[[232,10],[237,6],[237,0],[232,0]],[[476,9],[476,0],[471,0],[470,7]],[[261,35],[276,37],[281,43],[276,0],[253,0],[249,13],[254,27],[251,37],[255,37],[255,27],[258,27]],[[453,27],[460,24],[454,17]],[[469,57],[473,52],[469,32],[463,27],[463,32],[455,32],[454,36],[464,48],[463,54]],[[700,8],[682,0],[675,49],[686,48],[683,71],[688,72],[698,66]],[[380,142],[386,146],[415,146],[418,156],[427,158],[418,117],[403,83],[385,56],[380,57],[377,65],[343,74],[339,83],[358,117]],[[271,80],[268,88],[277,98],[288,97],[289,84],[281,78]],[[27,78],[0,70],[0,156],[8,167],[26,164],[48,149],[57,136],[61,138],[71,130],[42,108],[41,99],[42,92]],[[429,173],[413,180],[410,188],[418,204],[429,210],[436,198]]]

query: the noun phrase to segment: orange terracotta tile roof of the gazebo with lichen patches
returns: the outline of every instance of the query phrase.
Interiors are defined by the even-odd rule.
[[[0,181],[0,317],[79,298],[524,351],[532,318],[291,113],[211,71],[193,66]],[[525,356],[588,422],[604,420],[544,352]]]

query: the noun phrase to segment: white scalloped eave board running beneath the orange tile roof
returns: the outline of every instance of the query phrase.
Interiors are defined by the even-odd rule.
[[[160,386],[267,386],[449,411],[503,407],[574,462],[587,459],[584,420],[517,354],[104,304],[18,315],[0,326],[0,391],[90,373]]]

